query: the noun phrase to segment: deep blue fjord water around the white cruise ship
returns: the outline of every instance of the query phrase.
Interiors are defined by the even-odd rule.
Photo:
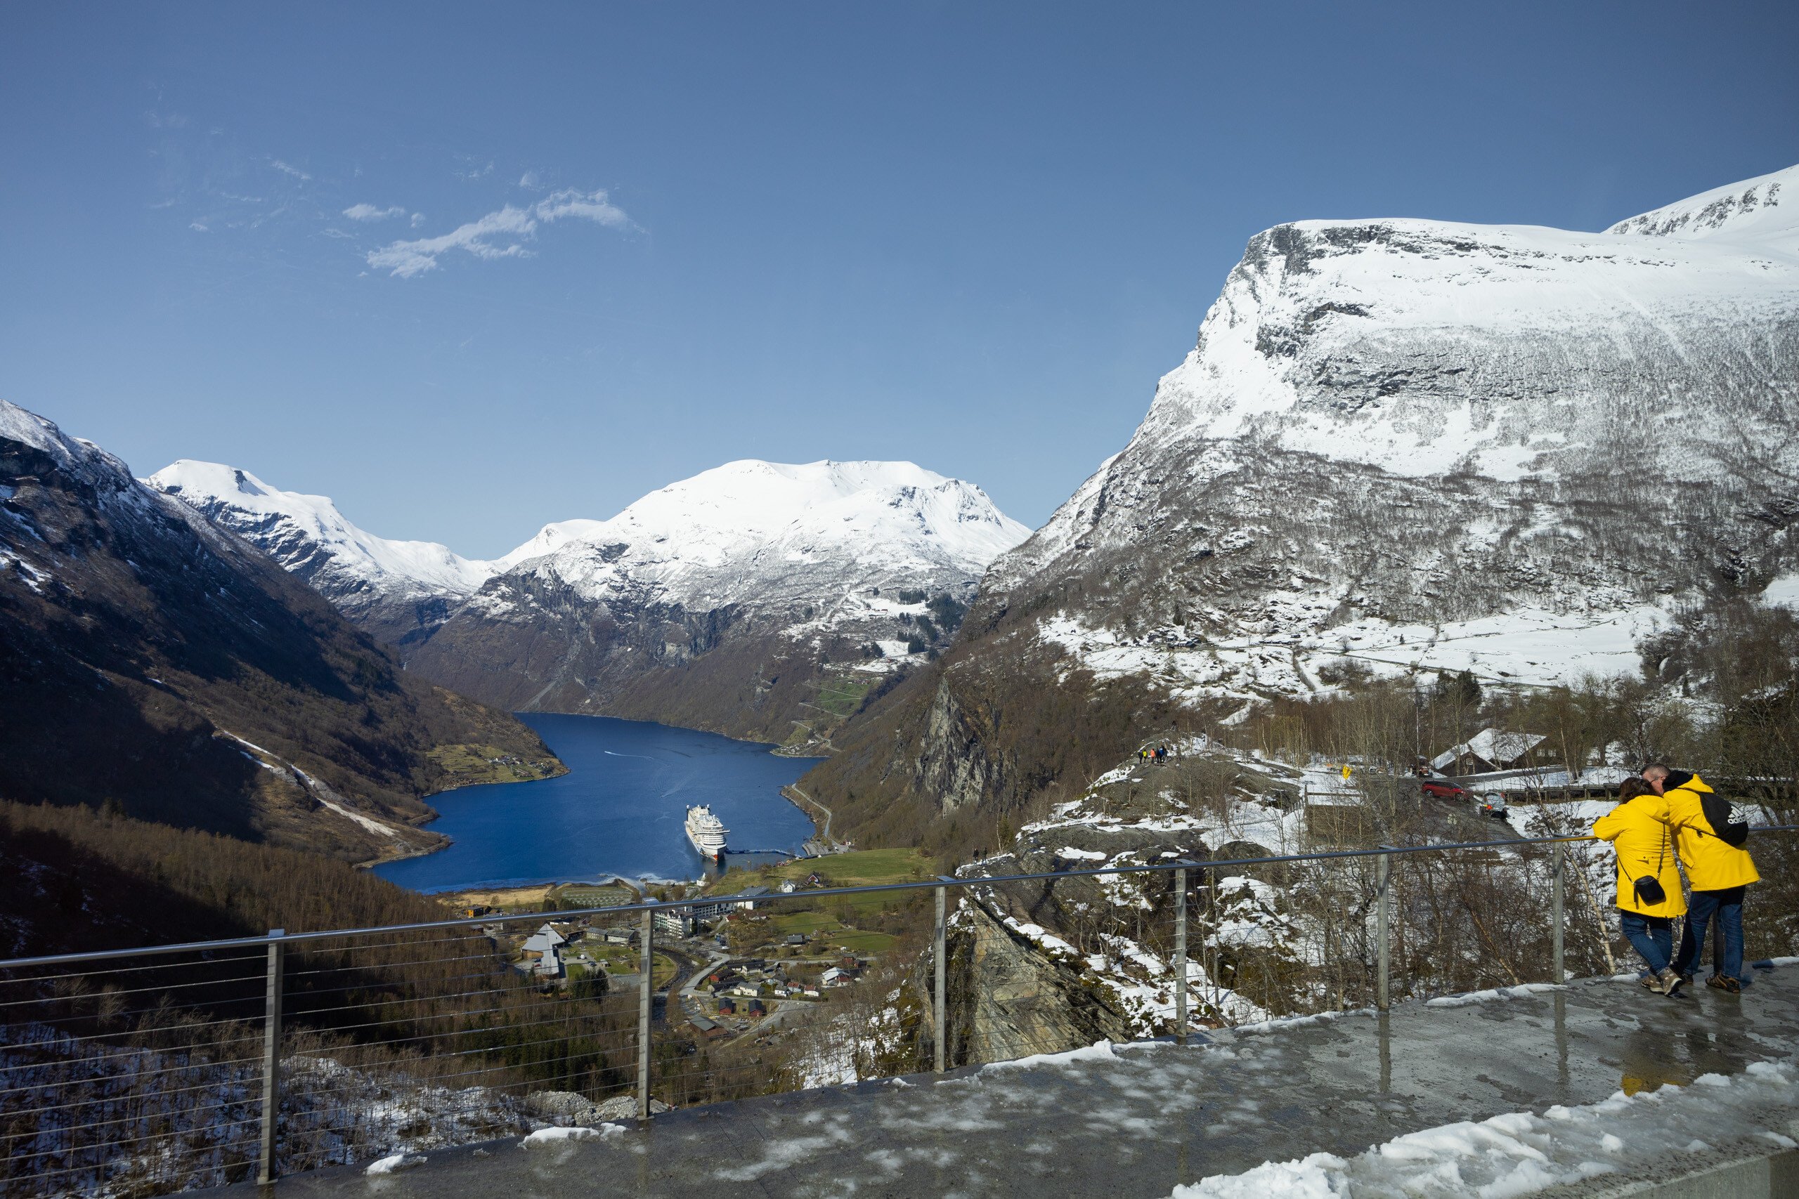
[[[376,866],[419,892],[525,886],[622,875],[698,879],[705,868],[682,823],[709,804],[732,850],[797,854],[813,823],[781,787],[813,759],[716,733],[604,715],[522,712],[568,773],[541,782],[462,787],[432,796],[430,823],[450,848]],[[727,857],[727,863],[730,857]]]

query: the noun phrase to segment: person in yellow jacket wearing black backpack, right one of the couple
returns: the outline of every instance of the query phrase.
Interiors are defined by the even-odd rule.
[[[1680,929],[1680,953],[1675,955],[1673,971],[1682,981],[1693,981],[1705,949],[1705,929],[1716,915],[1718,946],[1705,985],[1736,994],[1749,985],[1743,978],[1743,890],[1761,879],[1745,848],[1749,818],[1729,800],[1713,795],[1704,778],[1684,769],[1650,766],[1642,778],[1668,804],[1668,822],[1675,829],[1680,863],[1693,886],[1693,910]]]

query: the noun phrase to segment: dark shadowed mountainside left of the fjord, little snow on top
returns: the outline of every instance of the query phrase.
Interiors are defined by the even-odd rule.
[[[556,768],[255,546],[0,401],[0,795],[349,859],[441,843],[446,748]],[[489,746],[497,750],[488,750]]]

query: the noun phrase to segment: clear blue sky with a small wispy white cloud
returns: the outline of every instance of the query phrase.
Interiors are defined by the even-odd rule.
[[[1042,523],[1258,230],[1799,162],[1799,5],[0,7],[0,395],[491,555],[741,457]]]

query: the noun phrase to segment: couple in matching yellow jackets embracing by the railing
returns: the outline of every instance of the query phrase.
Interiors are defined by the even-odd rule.
[[[1713,974],[1705,985],[1740,992],[1749,985],[1743,890],[1761,879],[1747,848],[1747,814],[1698,775],[1668,766],[1648,766],[1639,778],[1626,778],[1617,800],[1592,834],[1617,852],[1617,915],[1624,938],[1650,967],[1642,985],[1673,996],[1693,981],[1705,931],[1716,919]],[[1680,866],[1691,902],[1680,888]],[[1675,949],[1678,917],[1686,920]]]

